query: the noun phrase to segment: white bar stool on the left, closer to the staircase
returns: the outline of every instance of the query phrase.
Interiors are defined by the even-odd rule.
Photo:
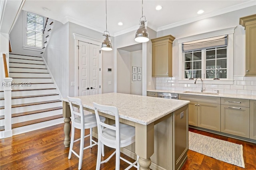
[[[71,141],[70,141],[70,149],[68,154],[68,159],[71,158],[71,154],[74,153],[78,158],[78,170],[82,168],[82,160],[83,160],[83,152],[84,149],[92,148],[94,145],[98,143],[92,139],[92,128],[97,127],[97,121],[95,114],[84,114],[83,105],[81,99],[79,98],[71,98],[68,97],[69,106],[71,111]],[[80,113],[74,110],[74,107],[79,106]],[[105,117],[100,116],[99,121],[104,122],[106,120]],[[80,138],[74,141],[74,133],[76,129],[81,129]],[[84,136],[84,129],[90,129],[90,134]],[[84,148],[84,138],[90,137],[90,145]],[[77,154],[73,150],[73,145],[75,142],[80,141],[80,152]],[[92,142],[94,144],[92,144]],[[104,146],[102,146],[102,156],[104,156]]]

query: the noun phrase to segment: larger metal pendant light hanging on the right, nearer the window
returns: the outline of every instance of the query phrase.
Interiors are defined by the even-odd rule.
[[[143,20],[145,19],[145,20]],[[142,17],[140,18],[140,27],[136,32],[134,40],[139,42],[139,43],[144,43],[149,41],[148,38],[148,31],[145,27],[145,22],[146,22],[146,17],[143,16],[143,0],[142,0]]]

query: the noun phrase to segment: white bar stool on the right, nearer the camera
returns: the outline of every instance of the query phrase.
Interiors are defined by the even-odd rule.
[[[138,163],[138,156],[135,162],[130,162],[120,156],[120,148],[126,147],[131,145],[135,142],[135,127],[130,125],[125,125],[119,122],[119,113],[118,108],[114,106],[104,106],[100,104],[93,103],[94,111],[97,119],[98,125],[98,155],[97,155],[97,163],[96,163],[96,170],[100,169],[100,164],[108,162],[110,158],[114,154],[116,154],[116,170],[120,169],[120,159],[124,160],[130,166],[128,166],[125,170],[128,170],[134,166],[135,168],[139,169]],[[100,121],[100,116],[98,111],[103,112],[112,112],[115,116],[115,124],[108,125],[102,121]],[[106,160],[101,160],[101,147],[102,145],[106,145],[108,147],[116,149]]]

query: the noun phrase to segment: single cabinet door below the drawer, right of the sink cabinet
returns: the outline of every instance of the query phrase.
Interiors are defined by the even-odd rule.
[[[249,108],[221,106],[221,132],[249,138]]]

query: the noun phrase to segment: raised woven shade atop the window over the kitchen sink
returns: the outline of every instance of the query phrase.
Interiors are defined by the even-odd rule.
[[[218,48],[218,47],[227,47],[228,45],[228,35],[221,35],[218,37],[211,37],[206,39],[199,39],[196,41],[189,41],[182,43],[182,51],[190,52],[197,51],[207,48]]]

